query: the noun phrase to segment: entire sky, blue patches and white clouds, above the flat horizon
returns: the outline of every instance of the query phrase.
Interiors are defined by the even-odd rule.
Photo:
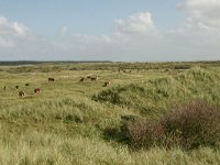
[[[0,61],[220,59],[220,0],[0,0]]]

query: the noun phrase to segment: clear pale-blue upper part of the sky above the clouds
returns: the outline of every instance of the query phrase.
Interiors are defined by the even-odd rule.
[[[53,34],[63,25],[89,34],[108,33],[117,18],[135,12],[151,11],[156,24],[167,28],[179,23],[183,13],[177,12],[179,0],[4,0],[0,12],[9,20],[19,20],[36,33]],[[165,13],[165,14],[164,14]],[[169,22],[166,22],[169,20]]]

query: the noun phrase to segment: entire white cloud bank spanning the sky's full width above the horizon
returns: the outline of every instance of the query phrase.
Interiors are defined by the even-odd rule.
[[[220,59],[219,0],[185,0],[182,7],[188,14],[178,29],[160,30],[150,12],[139,12],[117,19],[111,34],[65,35],[63,26],[59,35],[32,41],[29,28],[0,16],[0,46],[6,47],[0,59],[14,54],[13,59]]]

